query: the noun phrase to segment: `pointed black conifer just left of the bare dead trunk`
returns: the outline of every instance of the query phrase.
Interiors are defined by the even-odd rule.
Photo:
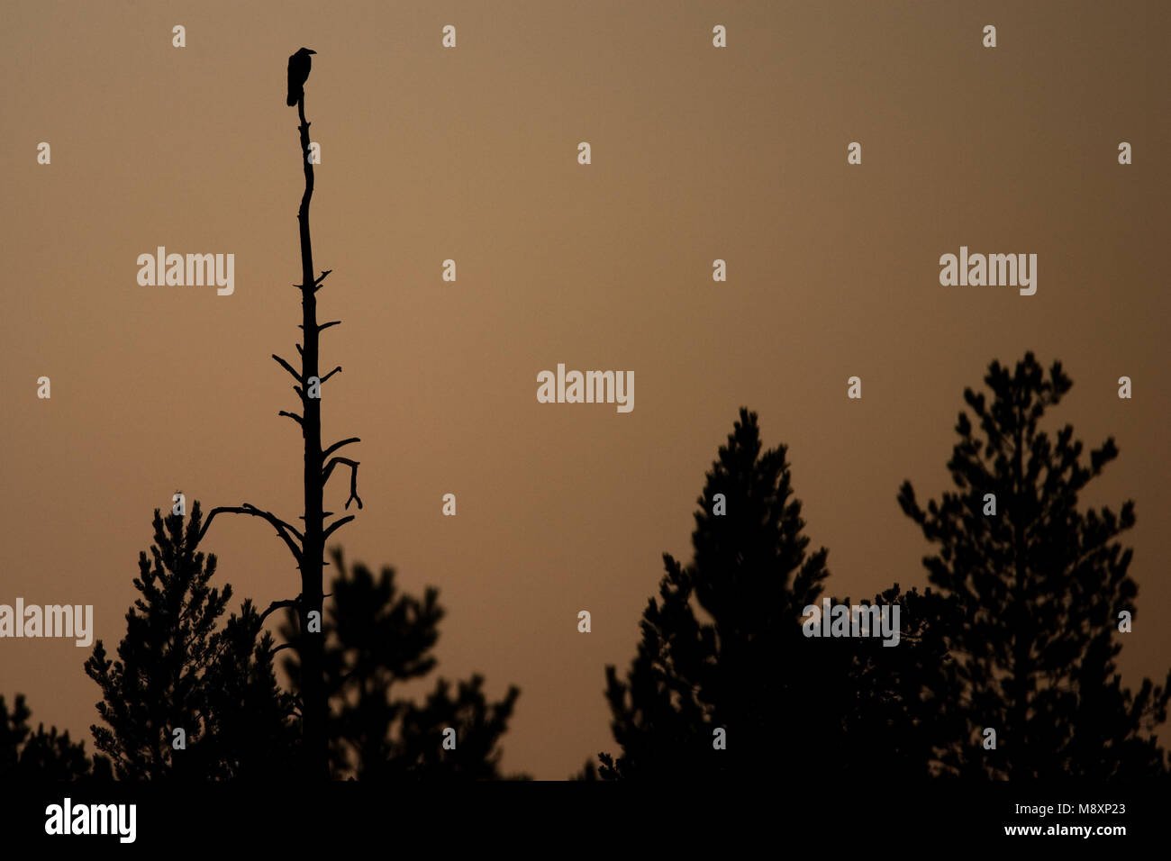
[[[102,689],[105,726],[91,731],[119,779],[191,779],[279,775],[295,733],[292,698],[280,693],[272,637],[259,638],[260,616],[246,601],[224,629],[217,621],[232,597],[210,586],[215,555],[199,552],[199,503],[184,524],[155,510],[152,559],[138,558],[117,660],[101,640],[85,674]],[[174,730],[185,749],[173,747]]]

